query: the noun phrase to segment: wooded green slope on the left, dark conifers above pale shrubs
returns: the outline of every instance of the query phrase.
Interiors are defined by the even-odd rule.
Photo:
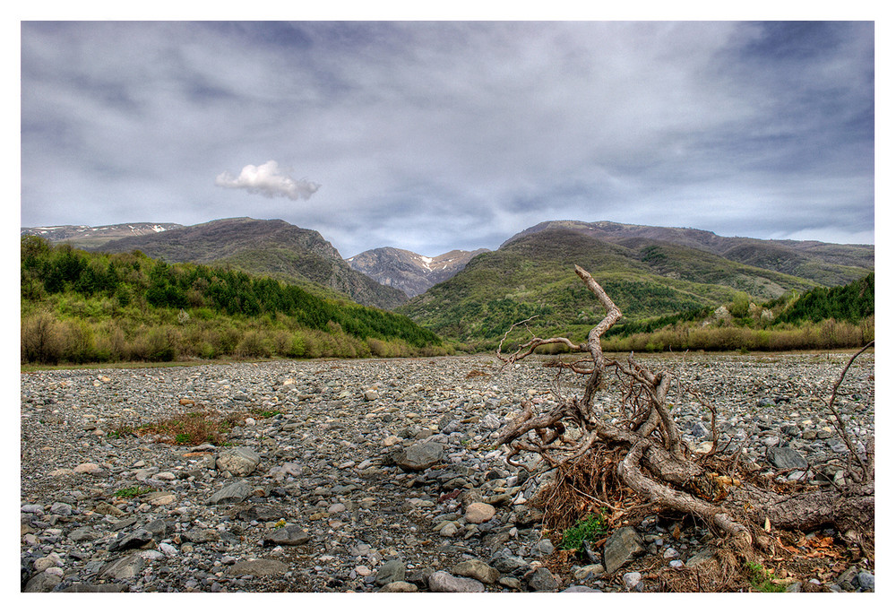
[[[281,281],[22,238],[22,363],[444,354],[400,316]]]

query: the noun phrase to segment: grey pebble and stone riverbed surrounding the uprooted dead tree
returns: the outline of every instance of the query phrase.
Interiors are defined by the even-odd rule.
[[[779,480],[806,466],[807,479],[839,480],[819,468],[846,451],[826,402],[848,359],[642,362],[673,368],[715,403],[719,432],[746,442],[745,463]],[[472,356],[22,373],[22,590],[643,590],[637,559],[616,567],[598,553],[570,576],[545,566],[557,545],[526,503],[547,477],[528,479],[494,446],[523,400],[546,409],[578,391],[542,360],[503,371]],[[599,393],[608,419],[623,419],[618,399],[613,385]],[[850,368],[837,407],[859,439],[874,434],[873,354]],[[248,417],[227,445],[117,435],[199,410]],[[692,449],[705,449],[709,412],[686,395],[675,412]],[[699,531],[673,538],[659,520],[634,529],[641,554],[671,566],[705,546]],[[874,590],[867,569],[813,581]]]

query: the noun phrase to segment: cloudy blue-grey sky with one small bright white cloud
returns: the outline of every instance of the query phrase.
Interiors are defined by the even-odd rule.
[[[874,242],[872,22],[22,22],[22,226]]]

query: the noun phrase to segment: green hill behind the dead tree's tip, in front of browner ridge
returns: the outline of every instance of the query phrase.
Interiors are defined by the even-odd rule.
[[[771,299],[814,283],[737,264],[720,256],[642,239],[623,246],[569,230],[519,238],[478,255],[451,280],[399,307],[468,350],[493,350],[510,326],[537,316],[541,335],[587,334],[601,307],[575,275],[590,271],[629,322],[650,316],[699,312],[733,301],[739,293]],[[511,341],[521,341],[521,329]]]

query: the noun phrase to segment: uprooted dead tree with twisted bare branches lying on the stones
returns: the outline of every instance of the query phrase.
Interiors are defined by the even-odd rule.
[[[806,531],[831,524],[843,532],[851,529],[867,535],[869,527],[874,531],[873,441],[866,446],[868,453],[863,457],[833,409],[836,387],[829,406],[840,420],[840,436],[849,446],[851,462],[857,465],[856,471],[849,471],[849,483],[839,488],[790,493],[751,483],[737,473],[739,452],[729,454],[726,465],[719,454],[692,454],[688,450],[669,411],[672,405],[667,396],[672,374],[653,373],[631,355],[627,360],[604,357],[600,337],[622,314],[589,272],[579,266],[575,272],[607,311],[607,316],[591,329],[586,342],[533,336],[509,355],[502,353],[506,334],[499,344],[497,355],[506,365],[530,356],[546,344],[561,343],[589,355],[587,359],[552,363],[586,377],[581,396],[561,398],[553,409],[540,414],[530,402],[524,402],[519,415],[502,428],[498,443],[508,446],[508,463],[521,465],[517,457],[523,452],[538,454],[549,469],[558,470],[568,468],[585,454],[613,457],[618,459],[618,483],[631,489],[642,502],[655,509],[701,518],[711,531],[731,538],[741,552],[752,551],[754,546],[771,548],[770,526]],[[846,369],[844,375],[845,372]],[[627,387],[631,414],[627,422],[610,423],[595,409],[595,393],[611,374]],[[727,470],[719,471],[723,466]],[[600,495],[582,494],[596,500]]]

